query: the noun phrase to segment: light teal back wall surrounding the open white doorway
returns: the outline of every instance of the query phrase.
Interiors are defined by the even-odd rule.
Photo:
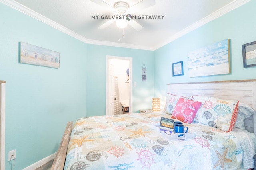
[[[87,116],[106,112],[106,55],[132,57],[133,113],[151,108],[154,97],[154,51],[87,45]],[[141,68],[145,63],[147,81],[142,82]],[[133,83],[130,82],[130,83]]]

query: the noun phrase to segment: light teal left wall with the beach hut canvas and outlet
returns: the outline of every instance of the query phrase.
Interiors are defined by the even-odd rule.
[[[86,115],[86,47],[0,3],[0,80],[6,80],[6,170],[16,149],[21,170],[57,151],[66,123]],[[60,68],[18,62],[19,42],[60,52]]]

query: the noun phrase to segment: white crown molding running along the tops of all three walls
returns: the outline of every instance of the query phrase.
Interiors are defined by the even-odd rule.
[[[85,37],[82,37],[81,35],[78,35],[77,33],[71,31],[70,29],[67,29],[66,27],[46,18],[45,16],[42,16],[41,14],[38,14],[37,12],[27,8],[26,6],[23,6],[22,4],[14,1],[14,0],[0,0],[3,4],[6,4],[28,16],[31,16],[32,18],[35,18],[36,20],[42,21],[43,23],[50,25],[51,27],[54,27],[55,29],[58,29],[59,31],[62,31],[63,33],[66,33],[67,35],[70,35],[71,37],[74,37],[84,43],[88,44],[94,44],[94,45],[106,45],[106,46],[113,46],[113,47],[124,47],[124,48],[132,48],[132,49],[143,49],[143,50],[150,50],[154,51],[156,49],[159,49],[160,47],[163,47],[164,45],[182,37],[183,35],[197,29],[198,27],[201,27],[202,25],[230,12],[231,10],[234,10],[235,8],[238,8],[239,6],[242,6],[243,4],[246,4],[250,0],[234,0],[233,2],[230,2],[226,6],[220,8],[216,12],[213,12],[212,14],[206,16],[202,20],[197,21],[196,23],[190,25],[189,27],[186,27],[185,29],[179,31],[175,35],[172,35],[166,41],[162,42],[161,44],[149,47],[149,46],[143,46],[143,45],[133,45],[133,44],[125,44],[125,43],[114,43],[109,41],[98,41],[98,40],[92,40],[87,39]]]

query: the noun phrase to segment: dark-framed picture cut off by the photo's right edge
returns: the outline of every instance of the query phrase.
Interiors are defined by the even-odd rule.
[[[256,66],[256,41],[242,45],[244,68]]]

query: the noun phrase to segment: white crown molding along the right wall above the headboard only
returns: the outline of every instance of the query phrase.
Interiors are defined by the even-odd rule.
[[[203,18],[202,20],[199,20],[197,22],[195,22],[194,24],[190,25],[189,27],[186,27],[185,29],[179,31],[178,33],[172,35],[169,39],[167,39],[166,41],[164,41],[163,43],[159,44],[158,46],[155,46],[153,48],[153,50],[159,49],[160,47],[163,47],[164,45],[182,37],[183,35],[201,27],[202,25],[215,20],[216,18],[234,10],[235,8],[238,8],[239,6],[242,6],[243,4],[246,4],[247,2],[249,2],[251,0],[234,0],[233,2],[230,2],[229,4],[227,4],[226,6],[220,8],[219,10],[213,12],[212,14],[206,16],[205,18]]]

